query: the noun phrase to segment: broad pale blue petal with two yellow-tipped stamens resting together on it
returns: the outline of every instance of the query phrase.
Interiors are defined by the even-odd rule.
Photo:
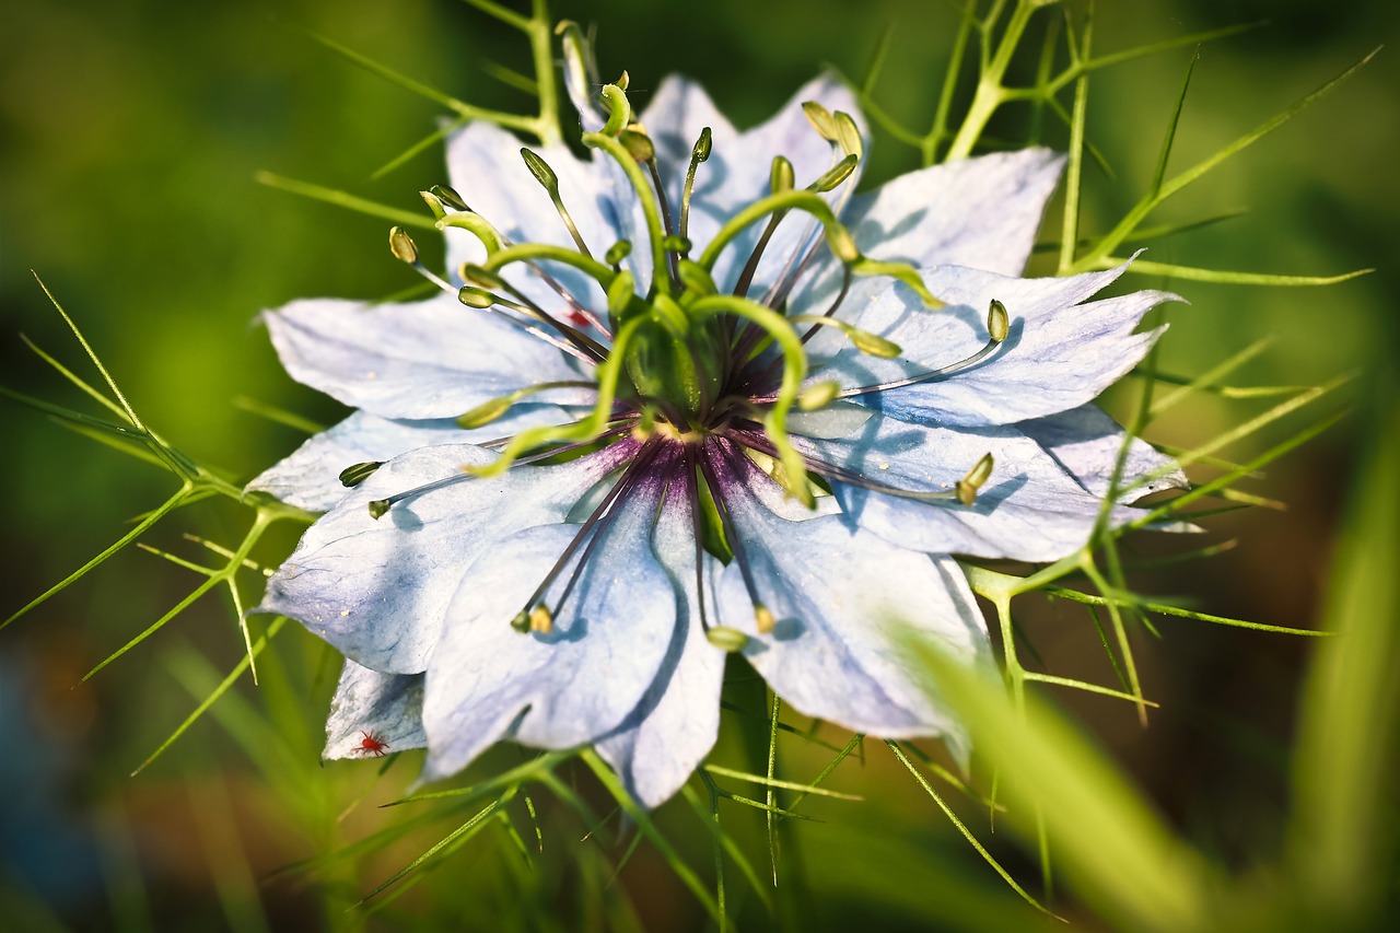
[[[546,525],[497,542],[472,565],[427,674],[424,780],[454,775],[500,738],[573,748],[615,730],[643,700],[676,632],[676,602],[651,551],[664,483],[629,490],[573,587],[549,588],[549,635],[511,619],[577,535]],[[575,555],[568,566],[578,560]]]

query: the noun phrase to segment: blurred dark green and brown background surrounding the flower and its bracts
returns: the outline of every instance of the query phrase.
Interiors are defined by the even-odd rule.
[[[524,42],[452,0],[7,0],[3,10],[0,381],[43,399],[84,403],[20,339],[24,333],[88,373],[34,270],[147,422],[235,479],[251,478],[301,437],[249,413],[238,398],[321,423],[342,413],[280,371],[253,324],[258,311],[302,296],[374,298],[413,284],[385,248],[384,221],[260,186],[255,172],[409,210],[420,209],[420,188],[445,181],[440,147],[370,181],[435,127],[440,108],[290,27],[329,35],[475,104],[531,106],[482,67],[490,59],[528,70]],[[661,76],[682,71],[704,81],[739,125],[766,118],[823,64],[858,77],[890,22],[897,31],[876,97],[896,118],[927,125],[955,22],[951,4],[895,0],[619,0],[561,3],[554,13],[599,25],[602,70],[627,69],[638,106]],[[1100,52],[1264,17],[1271,22],[1201,50],[1173,167],[1205,157],[1393,39],[1400,13],[1379,1],[1100,4]],[[1141,193],[1190,55],[1176,49],[1092,78],[1088,133],[1116,174],[1089,170],[1085,233],[1105,230]],[[1338,427],[1247,486],[1287,510],[1212,520],[1210,541],[1238,538],[1239,546],[1189,570],[1135,577],[1142,591],[1274,625],[1317,623],[1330,560],[1345,534],[1340,514],[1348,483],[1373,426],[1394,405],[1396,87],[1400,67],[1383,50],[1331,97],[1162,209],[1163,223],[1247,213],[1154,242],[1148,258],[1155,261],[1289,275],[1376,272],[1327,289],[1169,283],[1190,304],[1168,312],[1163,368],[1197,374],[1273,335],[1271,350],[1239,381],[1316,384],[1343,373],[1358,380],[1341,394],[1352,413]],[[1009,109],[993,134],[1015,137],[1022,118]],[[1050,141],[1064,144],[1058,127]],[[916,164],[913,150],[876,133],[865,184]],[[1056,230],[1047,227],[1047,238]],[[1110,399],[1116,410],[1130,410],[1134,388],[1130,382]],[[1257,410],[1197,399],[1155,426],[1149,440],[1190,447]],[[0,615],[8,615],[120,535],[125,523],[172,486],[167,475],[14,403],[0,403],[0,488],[8,496]],[[1243,461],[1285,433],[1287,426],[1268,431],[1226,455]],[[199,549],[182,532],[234,544],[245,521],[238,510],[196,507],[148,539],[195,558]],[[290,544],[273,542],[267,559]],[[410,776],[405,765],[382,779],[374,765],[315,766],[333,670],[328,674],[323,653],[294,628],[279,642],[280,665],[269,660],[262,692],[244,685],[148,772],[126,778],[193,707],[190,689],[217,681],[239,658],[227,598],[207,598],[92,682],[74,685],[196,581],[132,549],[0,633],[0,906],[24,926],[356,925],[358,915],[326,906],[326,891],[335,892],[330,902],[353,901],[437,838],[424,829],[337,869],[326,883],[270,877],[337,841],[399,821],[398,811],[374,806],[400,793]],[[1051,605],[1028,612],[1025,625],[1051,670],[1103,682],[1112,677],[1082,615]],[[1312,644],[1186,621],[1162,628],[1165,639],[1142,639],[1138,653],[1147,693],[1163,705],[1148,730],[1123,705],[1057,699],[1089,721],[1173,824],[1225,863],[1246,866],[1280,842],[1298,679]],[[742,737],[734,741],[742,759]],[[815,773],[820,754],[811,761]],[[1014,909],[1014,895],[907,775],[875,754],[867,770],[847,786],[875,794],[874,801],[822,807],[829,822],[802,827],[794,838],[785,855],[801,866],[806,885],[778,895],[778,916],[833,929],[854,920],[893,929],[960,926],[959,898]],[[679,838],[693,841],[693,863],[707,866],[707,843],[685,804],[671,804],[662,815],[679,827]],[[595,852],[575,843],[587,827],[550,838],[549,814],[543,817],[554,862],[522,874],[507,864],[518,853],[498,841],[477,841],[396,905],[389,923],[451,916],[487,929],[483,918],[510,909],[521,926],[570,929],[610,925],[636,911],[648,929],[704,927],[689,895],[645,846],[619,884],[599,895],[610,869],[588,867],[594,856],[580,855]],[[762,871],[760,824],[752,822],[750,855]],[[1016,852],[998,848],[1021,877],[1032,878],[1030,863]],[[582,860],[582,874],[566,870],[571,859]],[[510,891],[515,895],[507,897]],[[931,894],[938,891],[959,895]],[[622,906],[623,897],[631,908]],[[554,901],[564,905],[557,913],[536,911]]]

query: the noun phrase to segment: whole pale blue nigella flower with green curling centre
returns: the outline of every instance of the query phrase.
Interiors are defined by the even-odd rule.
[[[326,511],[262,604],[347,658],[326,755],[426,745],[437,779],[500,740],[592,744],[655,806],[714,742],[728,653],[804,714],[965,751],[907,639],[983,663],[949,555],[1085,544],[1121,443],[1092,399],[1170,296],[1015,277],[1046,150],[853,195],[832,80],[743,133],[683,80],[640,119],[573,90],[588,158],[452,140],[426,200],[456,277],[391,235],[448,294],[266,315],[288,373],[358,409],[252,485]],[[1134,444],[1126,478],[1163,464]]]

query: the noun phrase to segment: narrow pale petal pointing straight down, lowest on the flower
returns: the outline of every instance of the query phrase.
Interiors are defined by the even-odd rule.
[[[651,546],[675,588],[676,630],[666,661],[641,705],[598,742],[598,752],[633,797],[645,807],[658,807],[686,783],[714,745],[720,731],[725,653],[704,636],[696,598],[690,503],[685,490],[675,485],[658,517]],[[704,555],[704,602],[713,622],[717,605],[713,583],[724,567],[710,555]]]

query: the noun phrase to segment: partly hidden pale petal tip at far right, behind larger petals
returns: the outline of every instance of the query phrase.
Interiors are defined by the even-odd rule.
[[[1016,424],[1032,440],[1044,447],[1061,466],[1095,496],[1109,495],[1113,465],[1123,450],[1124,431],[1098,405],[1039,417]],[[1163,489],[1184,489],[1186,474],[1170,457],[1159,454],[1141,438],[1134,437],[1123,461],[1119,488],[1147,482],[1131,490],[1127,499],[1138,499]]]

